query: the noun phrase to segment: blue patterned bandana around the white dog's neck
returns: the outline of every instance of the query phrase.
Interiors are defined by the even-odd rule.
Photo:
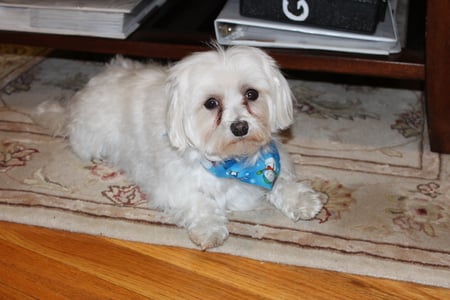
[[[264,147],[254,163],[250,164],[246,159],[229,159],[223,162],[208,162],[203,166],[217,177],[239,179],[268,190],[272,190],[281,169],[280,154],[275,142]]]

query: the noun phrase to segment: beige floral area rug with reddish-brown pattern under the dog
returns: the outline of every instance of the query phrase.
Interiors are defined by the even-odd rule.
[[[8,59],[17,66],[23,55],[0,56]],[[15,80],[2,73],[0,219],[194,248],[126,174],[80,161],[31,121],[36,105],[69,99],[102,67],[48,57]],[[296,122],[282,138],[301,180],[328,203],[298,223],[271,207],[230,213],[231,236],[212,251],[450,287],[450,156],[429,150],[423,95],[290,83]]]

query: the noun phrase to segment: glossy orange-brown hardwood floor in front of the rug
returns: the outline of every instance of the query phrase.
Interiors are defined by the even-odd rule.
[[[0,222],[0,299],[450,299],[450,290]]]

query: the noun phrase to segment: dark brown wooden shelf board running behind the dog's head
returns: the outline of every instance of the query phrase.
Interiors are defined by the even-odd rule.
[[[136,34],[143,34],[143,32]],[[212,40],[212,36],[207,34],[183,33],[184,41],[175,43],[175,38],[172,40],[168,38],[168,35],[163,36],[162,33],[145,32],[145,34],[148,39],[115,40],[0,31],[0,41],[71,51],[180,59],[191,52],[206,50],[208,46],[204,41]],[[413,80],[425,78],[423,52],[421,51],[405,49],[401,54],[391,56],[350,55],[289,49],[267,49],[267,52],[285,69]]]

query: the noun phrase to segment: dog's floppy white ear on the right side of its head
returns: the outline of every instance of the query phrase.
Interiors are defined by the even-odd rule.
[[[261,57],[264,71],[271,82],[272,99],[269,103],[271,130],[285,129],[294,122],[294,96],[275,60],[264,51],[255,50]]]

